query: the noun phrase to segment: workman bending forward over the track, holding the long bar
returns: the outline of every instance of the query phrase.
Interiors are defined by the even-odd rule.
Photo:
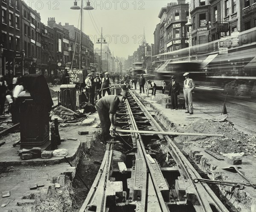
[[[102,97],[96,103],[104,143],[111,143],[110,140],[114,138],[110,135],[110,129],[115,130],[116,126],[114,122],[114,115],[116,114],[120,104],[124,102],[125,99],[127,99],[127,92],[122,91],[119,95],[108,95]]]

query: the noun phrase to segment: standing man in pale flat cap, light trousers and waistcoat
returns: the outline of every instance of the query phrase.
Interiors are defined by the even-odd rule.
[[[192,100],[192,92],[195,89],[195,83],[192,79],[189,78],[189,72],[186,72],[183,74],[183,76],[186,78],[184,80],[184,86],[183,86],[183,94],[185,98],[186,103],[186,112],[190,115],[193,114],[193,100]]]

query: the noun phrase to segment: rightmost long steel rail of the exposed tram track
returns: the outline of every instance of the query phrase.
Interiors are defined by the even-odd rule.
[[[157,123],[157,121],[152,117],[150,112],[145,108],[145,106],[140,102],[140,100],[134,95],[134,93],[130,90],[131,95],[134,97],[134,100],[137,101],[138,105],[144,110],[146,115],[151,118],[152,123],[154,123],[154,126],[157,127],[157,129],[161,132],[164,132],[162,127]],[[195,178],[201,178],[201,176],[198,174],[198,172],[195,170],[195,168],[189,163],[189,161],[186,159],[186,157],[182,154],[180,149],[177,148],[175,143],[169,138],[169,136],[164,136],[168,145],[170,146],[169,152],[175,159],[176,163],[180,166],[180,168],[183,171],[183,174],[185,174],[186,178],[190,180],[192,185],[195,187],[195,189],[198,191],[198,197],[199,200],[204,207],[204,211],[210,212],[212,211],[210,204],[214,204],[216,209],[218,209],[219,212],[228,212],[227,208],[224,206],[224,204],[219,200],[219,198],[215,195],[214,192],[209,188],[209,186],[206,183],[193,183],[192,179]],[[204,192],[205,191],[205,192]],[[208,195],[208,198],[207,198]],[[212,199],[212,203],[210,203],[210,200]]]

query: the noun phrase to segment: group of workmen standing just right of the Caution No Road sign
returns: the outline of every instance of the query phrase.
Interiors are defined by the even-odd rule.
[[[88,74],[87,78],[84,80],[85,82],[85,93],[88,99],[88,102],[91,104],[95,104],[94,102],[98,99],[104,97],[106,92],[108,95],[111,94],[110,88],[111,88],[111,80],[109,77],[108,72],[104,74],[104,77],[100,77],[99,74],[96,74],[95,76],[93,74]]]

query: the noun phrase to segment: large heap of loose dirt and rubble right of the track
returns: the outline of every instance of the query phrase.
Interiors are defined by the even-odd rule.
[[[186,132],[224,134],[224,137],[179,136],[180,138],[177,137],[175,140],[182,140],[184,143],[192,142],[195,146],[221,155],[241,152],[245,155],[254,155],[256,153],[256,137],[237,130],[232,123],[200,119],[184,128]]]

